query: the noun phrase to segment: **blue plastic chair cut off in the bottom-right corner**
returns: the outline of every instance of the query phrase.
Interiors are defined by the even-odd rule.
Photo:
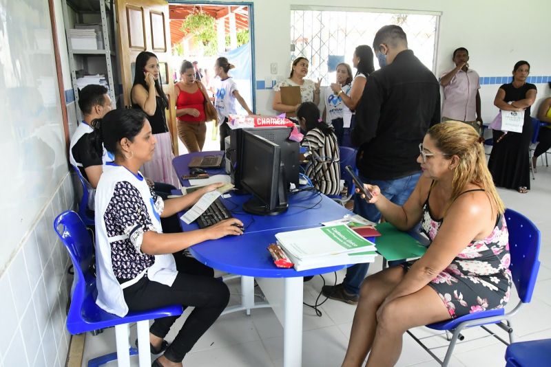
[[[505,351],[505,367],[549,366],[551,339],[512,343]]]

